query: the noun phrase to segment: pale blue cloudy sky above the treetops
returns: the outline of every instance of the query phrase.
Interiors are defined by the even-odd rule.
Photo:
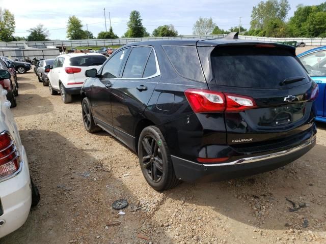
[[[138,10],[147,32],[152,33],[159,25],[173,24],[179,35],[192,35],[193,25],[199,17],[212,17],[220,28],[238,26],[239,17],[244,28],[250,28],[250,16],[260,0],[0,0],[0,7],[9,9],[15,15],[14,36],[26,37],[26,31],[38,24],[49,30],[49,39],[67,40],[66,26],[68,17],[75,15],[82,20],[83,29],[96,37],[110,28],[109,12],[113,31],[121,37],[127,29],[126,23],[132,10]],[[322,0],[309,0],[309,5],[321,4]],[[303,0],[289,0],[291,17],[298,4],[308,4]],[[19,7],[18,7],[19,6]],[[87,26],[88,25],[88,26]]]

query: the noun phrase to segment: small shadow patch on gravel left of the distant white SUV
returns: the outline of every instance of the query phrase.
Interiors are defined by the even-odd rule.
[[[47,98],[37,94],[20,94],[16,97],[17,107],[12,108],[15,117],[48,113],[53,111],[53,105]]]

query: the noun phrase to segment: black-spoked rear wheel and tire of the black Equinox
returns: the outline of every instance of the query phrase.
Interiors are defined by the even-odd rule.
[[[168,190],[181,182],[175,176],[169,148],[157,127],[149,126],[142,131],[138,157],[142,173],[154,190]]]

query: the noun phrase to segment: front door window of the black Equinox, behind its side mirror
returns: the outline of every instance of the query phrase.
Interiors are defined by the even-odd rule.
[[[123,49],[113,56],[106,62],[102,68],[103,78],[117,78],[119,76],[119,70],[124,60],[124,57],[128,51],[128,48]]]

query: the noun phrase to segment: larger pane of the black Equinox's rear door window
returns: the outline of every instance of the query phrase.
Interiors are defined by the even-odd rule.
[[[132,48],[122,78],[142,78],[151,50],[150,47]]]

